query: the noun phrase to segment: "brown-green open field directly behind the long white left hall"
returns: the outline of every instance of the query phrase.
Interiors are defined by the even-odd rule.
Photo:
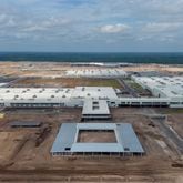
[[[115,79],[81,79],[81,78],[27,78],[13,83],[12,87],[113,87],[121,88]]]

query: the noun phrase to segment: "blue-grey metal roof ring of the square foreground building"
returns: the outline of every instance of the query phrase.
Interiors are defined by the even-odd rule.
[[[79,130],[114,130],[116,143],[77,142]],[[144,153],[129,123],[63,123],[51,149],[54,152],[132,152]]]

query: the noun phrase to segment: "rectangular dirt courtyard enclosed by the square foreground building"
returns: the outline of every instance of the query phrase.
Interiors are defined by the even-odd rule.
[[[80,131],[78,136],[78,142],[88,142],[88,143],[114,143],[116,142],[114,131]]]

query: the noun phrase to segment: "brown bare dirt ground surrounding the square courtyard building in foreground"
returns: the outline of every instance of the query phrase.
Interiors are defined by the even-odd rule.
[[[50,150],[61,123],[80,122],[81,109],[4,111],[0,126],[0,182],[181,183],[183,157],[176,143],[146,115],[156,114],[156,109],[121,108],[111,112],[115,122],[133,125],[146,152],[144,156],[52,157]],[[166,113],[164,109],[162,112]],[[183,114],[179,114],[180,121],[175,118],[177,113],[167,115],[181,132]],[[11,129],[11,121],[41,121],[44,124],[40,129]],[[48,126],[50,131],[45,133],[43,129]],[[42,141],[37,143],[40,138]]]

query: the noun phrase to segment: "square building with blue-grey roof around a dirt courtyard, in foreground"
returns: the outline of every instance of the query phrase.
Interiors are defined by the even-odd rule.
[[[80,141],[80,133],[112,132],[114,141]],[[143,155],[144,150],[129,123],[63,123],[51,149],[52,155]]]

